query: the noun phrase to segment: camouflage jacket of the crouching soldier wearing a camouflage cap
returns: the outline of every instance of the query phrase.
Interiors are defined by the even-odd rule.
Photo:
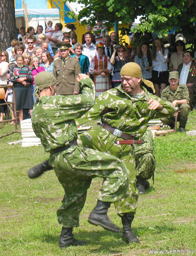
[[[174,100],[187,100],[189,104],[189,90],[187,86],[183,83],[179,83],[176,91],[172,91],[171,86],[167,86],[161,93],[162,100],[168,100],[173,102]]]

